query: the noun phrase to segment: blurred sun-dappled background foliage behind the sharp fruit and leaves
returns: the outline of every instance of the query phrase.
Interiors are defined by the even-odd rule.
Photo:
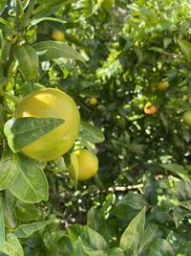
[[[44,21],[38,26],[37,41],[61,31],[87,63],[71,65],[64,58],[48,67],[43,63],[39,82],[71,94],[81,119],[93,121],[105,135],[96,149],[95,180],[78,183],[74,191],[65,174],[53,179],[53,200],[63,190],[59,204],[67,208],[68,201],[75,221],[85,221],[87,209],[105,203],[110,189],[118,199],[147,176],[167,181],[171,172],[163,165],[177,163],[189,172],[191,138],[182,113],[191,101],[191,48],[180,41],[190,40],[190,9],[188,1],[139,0],[117,1],[106,11],[86,0],[52,14],[64,24]],[[168,82],[165,90],[158,88],[160,81]],[[147,102],[157,105],[154,115],[144,113]]]

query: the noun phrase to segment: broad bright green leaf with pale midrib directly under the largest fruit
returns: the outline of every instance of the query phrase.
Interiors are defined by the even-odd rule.
[[[21,201],[35,203],[47,200],[49,187],[46,176],[39,164],[21,154],[19,157],[19,174],[9,186],[9,190]]]

